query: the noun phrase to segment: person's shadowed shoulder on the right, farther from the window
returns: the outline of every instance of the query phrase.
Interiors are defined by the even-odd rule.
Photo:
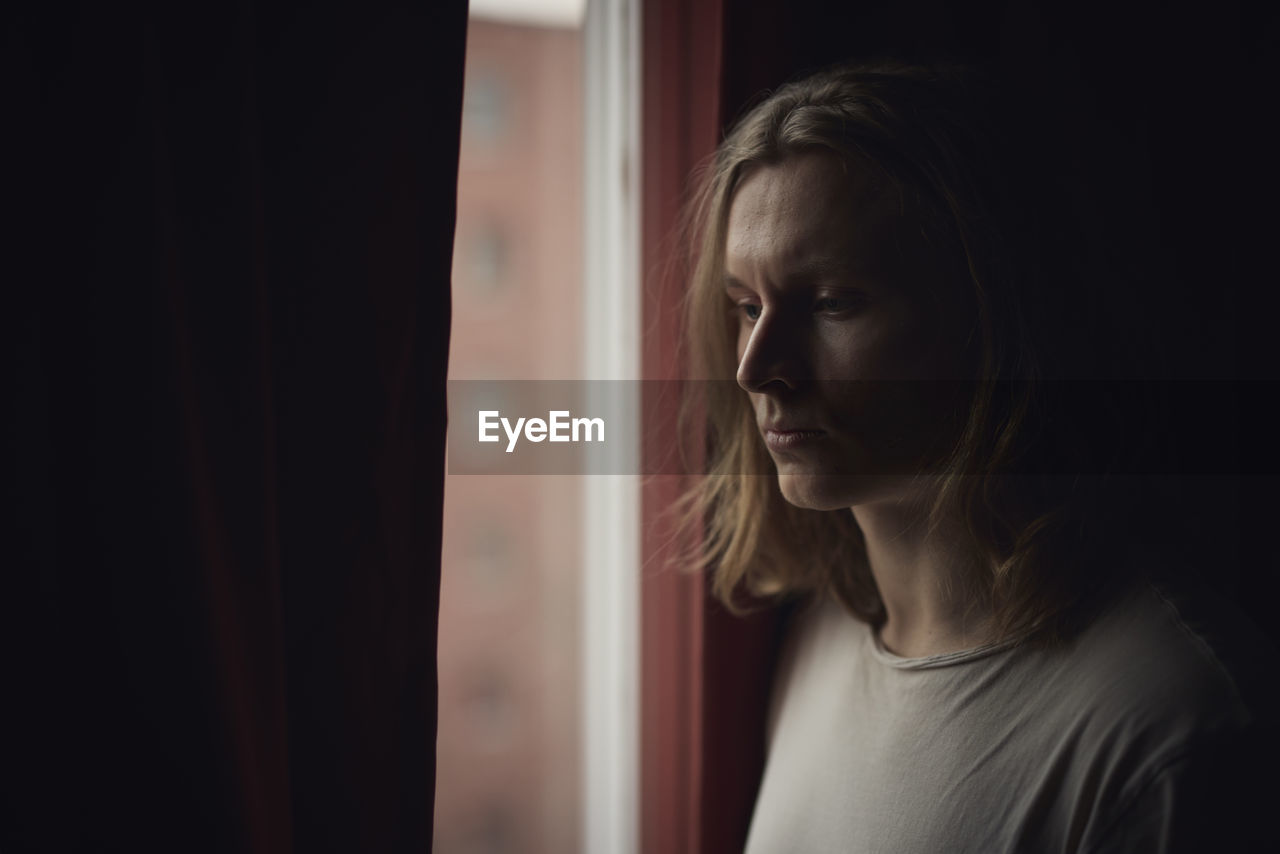
[[[1107,791],[1084,850],[1226,850],[1274,834],[1277,653],[1239,608],[1193,579],[1146,581],[1053,654]]]

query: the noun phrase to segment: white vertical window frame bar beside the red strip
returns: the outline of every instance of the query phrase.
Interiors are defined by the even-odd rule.
[[[584,27],[584,353],[602,408],[639,412],[640,4],[589,0]],[[618,396],[627,398],[618,401]],[[588,411],[593,411],[589,408]],[[639,472],[639,447],[612,471]],[[640,476],[589,475],[582,519],[582,850],[640,846]]]

